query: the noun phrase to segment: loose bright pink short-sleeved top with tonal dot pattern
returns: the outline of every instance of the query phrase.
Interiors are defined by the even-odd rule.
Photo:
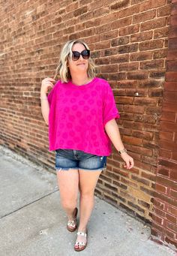
[[[47,98],[50,151],[73,149],[93,155],[111,154],[111,140],[104,126],[120,116],[106,80],[95,77],[83,86],[58,81]]]

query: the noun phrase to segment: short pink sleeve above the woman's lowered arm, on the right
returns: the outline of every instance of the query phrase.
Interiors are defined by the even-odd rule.
[[[108,121],[112,119],[120,118],[118,109],[115,104],[115,98],[113,95],[113,90],[109,83],[105,86],[104,89],[104,126]]]

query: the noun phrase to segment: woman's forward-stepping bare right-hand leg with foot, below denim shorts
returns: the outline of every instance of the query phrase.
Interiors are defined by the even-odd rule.
[[[94,191],[101,174],[101,170],[79,170],[80,174],[80,225],[79,231],[86,231],[92,209],[95,204]],[[77,241],[86,242],[85,236],[77,236]],[[82,246],[82,245],[80,245]],[[78,248],[78,245],[76,246]]]

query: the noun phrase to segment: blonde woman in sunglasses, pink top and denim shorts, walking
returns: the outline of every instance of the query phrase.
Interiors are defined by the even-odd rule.
[[[111,154],[111,141],[127,169],[133,158],[124,149],[115,119],[119,118],[113,91],[106,80],[95,77],[88,45],[68,41],[62,48],[56,74],[42,81],[43,119],[49,124],[49,149],[55,150],[55,168],[68,230],[77,229],[77,195],[80,190],[80,224],[76,251],[87,245],[87,224],[94,207],[94,191]],[[54,77],[54,78],[55,78]],[[55,83],[55,86],[53,86]],[[46,96],[48,89],[52,88]]]

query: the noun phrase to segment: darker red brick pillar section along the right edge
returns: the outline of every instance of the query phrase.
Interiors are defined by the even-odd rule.
[[[172,1],[152,234],[177,247],[177,1]]]

